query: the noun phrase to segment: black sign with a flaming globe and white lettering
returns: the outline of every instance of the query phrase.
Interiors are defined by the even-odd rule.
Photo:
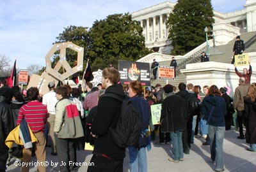
[[[122,84],[138,80],[141,85],[150,85],[150,68],[147,62],[118,61],[118,71]]]

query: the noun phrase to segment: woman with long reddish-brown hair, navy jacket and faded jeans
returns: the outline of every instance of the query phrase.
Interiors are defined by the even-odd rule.
[[[211,160],[215,165],[214,171],[224,171],[223,140],[225,135],[225,115],[227,114],[225,99],[221,97],[216,85],[209,89],[209,95],[202,103],[204,120],[207,120],[210,140]]]

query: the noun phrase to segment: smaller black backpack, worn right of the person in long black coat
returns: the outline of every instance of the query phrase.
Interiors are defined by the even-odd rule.
[[[198,99],[194,93],[189,93],[187,105],[190,115],[194,116],[200,114],[200,99]]]

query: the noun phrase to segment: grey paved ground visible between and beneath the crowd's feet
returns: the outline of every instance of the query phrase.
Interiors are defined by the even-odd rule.
[[[256,171],[256,152],[248,152],[248,144],[245,140],[237,139],[238,133],[234,130],[226,131],[224,140],[224,164],[225,171],[230,172],[255,172]],[[191,144],[190,154],[184,154],[184,161],[182,162],[169,162],[168,157],[172,155],[170,151],[171,145],[156,145],[152,142],[152,150],[147,152],[148,158],[148,171],[150,172],[209,172],[214,171],[214,164],[212,164],[209,153],[209,146],[202,145],[204,140],[202,138],[195,138],[195,143]],[[47,171],[58,171],[60,164],[52,166],[58,162],[58,156],[51,155],[51,148],[46,148],[47,157],[46,161],[49,163]],[[74,171],[86,171],[86,163],[89,164],[92,157],[92,151],[78,150],[77,162],[81,162],[81,166]],[[14,159],[13,161],[14,162]],[[35,157],[31,162],[36,162]],[[82,162],[86,162],[82,164]],[[87,164],[87,165],[88,165]],[[12,164],[8,166],[7,171],[20,171],[18,166]],[[35,166],[30,171],[36,171]],[[126,152],[124,160],[124,171],[129,171],[129,154]]]

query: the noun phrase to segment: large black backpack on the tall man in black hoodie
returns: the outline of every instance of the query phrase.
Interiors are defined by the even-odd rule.
[[[109,132],[116,145],[120,148],[126,148],[138,145],[142,131],[142,120],[138,111],[132,105],[129,97],[125,99],[116,96],[116,94],[105,93],[102,96],[112,97],[122,102],[122,109],[118,118],[116,128],[109,127]],[[100,97],[102,97],[100,96]]]

